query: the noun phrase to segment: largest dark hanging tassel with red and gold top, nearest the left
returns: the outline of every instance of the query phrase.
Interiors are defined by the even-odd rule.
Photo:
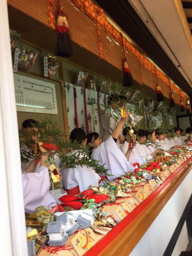
[[[60,57],[70,57],[73,55],[71,38],[68,25],[68,16],[62,11],[58,0],[57,11],[57,50],[56,55]]]

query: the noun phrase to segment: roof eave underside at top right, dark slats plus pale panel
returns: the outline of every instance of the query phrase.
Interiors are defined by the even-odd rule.
[[[192,37],[180,0],[95,2],[192,97]]]

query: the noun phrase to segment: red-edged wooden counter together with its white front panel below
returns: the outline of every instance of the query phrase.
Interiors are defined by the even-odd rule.
[[[192,157],[85,255],[163,255],[192,192]]]

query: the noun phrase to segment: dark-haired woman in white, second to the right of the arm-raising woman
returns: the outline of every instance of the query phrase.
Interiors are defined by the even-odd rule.
[[[144,144],[145,141],[146,141],[146,132],[142,129],[139,129],[137,131],[137,141],[134,146],[134,150],[138,152],[142,163],[146,163],[148,160],[153,159],[156,156],[156,154],[162,153],[162,151],[158,149],[152,153]]]

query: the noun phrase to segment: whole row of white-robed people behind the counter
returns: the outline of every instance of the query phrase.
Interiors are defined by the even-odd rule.
[[[79,143],[82,147],[87,146],[90,159],[97,160],[100,165],[108,169],[108,175],[98,175],[93,168],[86,165],[63,166],[60,168],[62,185],[69,195],[77,195],[90,185],[98,186],[103,179],[112,181],[122,176],[124,172],[133,172],[136,163],[142,165],[157,155],[169,152],[172,148],[185,145],[187,141],[192,140],[192,127],[188,127],[186,133],[179,127],[174,127],[172,131],[143,129],[135,131],[130,126],[126,126],[129,116],[130,113],[126,113],[117,122],[112,116],[103,114],[101,136],[98,133],[86,135],[80,128],[71,131],[71,142]],[[28,119],[23,122],[23,129],[34,129],[35,125],[33,119]],[[73,154],[76,154],[76,151],[72,149],[68,156]],[[49,151],[41,154],[39,163],[36,163],[36,159],[29,159],[29,163],[22,166],[25,210],[28,212],[32,212],[39,205],[54,206],[56,203],[49,194],[50,179],[46,162],[48,156]],[[78,157],[83,155],[78,154]],[[57,165],[59,165],[58,159],[56,156]]]

